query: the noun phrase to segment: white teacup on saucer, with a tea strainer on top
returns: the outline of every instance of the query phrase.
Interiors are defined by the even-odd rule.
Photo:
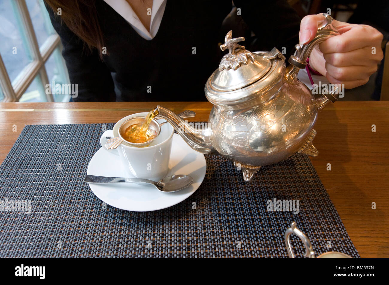
[[[169,158],[172,149],[174,129],[170,124],[161,126],[161,133],[147,147],[134,147],[122,142],[116,149],[106,149],[108,138],[119,136],[121,124],[132,117],[146,117],[147,113],[137,113],[119,120],[112,130],[107,130],[100,137],[100,144],[107,152],[119,155],[128,177],[145,178],[159,181],[166,176],[169,170]]]

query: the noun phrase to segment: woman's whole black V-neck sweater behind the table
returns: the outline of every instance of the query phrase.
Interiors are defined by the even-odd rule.
[[[257,36],[259,50],[286,47],[293,54],[300,18],[286,0],[234,3]],[[158,33],[148,41],[107,3],[96,0],[108,53],[103,61],[97,50],[85,52],[60,16],[48,11],[61,37],[70,81],[78,84],[74,101],[202,101],[205,82],[225,53],[219,48],[225,36],[221,24],[231,8],[231,0],[167,0]]]

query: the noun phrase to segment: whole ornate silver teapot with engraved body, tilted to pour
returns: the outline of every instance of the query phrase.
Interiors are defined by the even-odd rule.
[[[209,122],[195,128],[172,111],[157,106],[155,113],[166,119],[189,146],[203,154],[221,154],[242,170],[245,181],[268,164],[296,152],[316,156],[312,145],[318,110],[335,102],[336,88],[316,98],[297,79],[312,49],[327,37],[338,35],[327,14],[315,38],[296,45],[285,64],[284,55],[249,52],[228,32],[222,50],[229,50],[205,85],[205,95],[214,104]]]

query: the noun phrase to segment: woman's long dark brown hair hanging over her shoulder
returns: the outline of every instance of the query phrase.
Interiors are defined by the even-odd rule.
[[[96,0],[45,0],[57,15],[61,9],[61,21],[93,50],[96,48],[102,57],[104,37],[96,11]]]

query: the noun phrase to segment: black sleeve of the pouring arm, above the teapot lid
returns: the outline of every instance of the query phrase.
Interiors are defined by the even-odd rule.
[[[234,0],[234,4],[241,8],[243,20],[269,51],[286,47],[286,55],[294,54],[301,19],[286,0]]]

